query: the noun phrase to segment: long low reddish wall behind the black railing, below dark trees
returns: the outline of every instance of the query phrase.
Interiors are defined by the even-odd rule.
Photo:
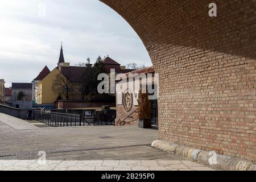
[[[90,108],[90,107],[101,107],[108,105],[115,107],[115,102],[90,102],[90,101],[56,101],[56,109],[77,109],[77,108]]]

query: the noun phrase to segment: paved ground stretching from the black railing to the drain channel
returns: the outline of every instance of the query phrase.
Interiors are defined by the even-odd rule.
[[[16,118],[6,116],[9,121]],[[0,155],[17,152],[65,150],[67,148],[107,148],[134,145],[150,145],[158,138],[157,130],[138,127],[90,126],[38,128],[17,120],[14,127],[2,122],[0,115]],[[22,126],[24,124],[24,126]],[[26,127],[32,126],[32,129]],[[24,128],[24,129],[22,129]]]

